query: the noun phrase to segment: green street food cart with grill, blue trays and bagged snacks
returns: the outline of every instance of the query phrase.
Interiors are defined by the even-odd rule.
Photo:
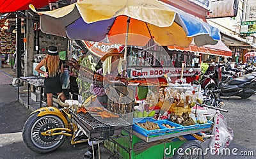
[[[81,69],[82,73],[84,73],[84,80],[95,79],[90,82],[101,84],[100,80],[102,81],[102,77],[100,75],[94,73],[93,77],[88,77],[86,75],[88,70],[86,68]],[[73,116],[72,121],[81,130],[84,130],[89,140],[104,140],[105,148],[118,156],[118,158],[168,158],[173,155],[177,156],[177,153],[175,153],[175,149],[177,148],[201,148],[200,144],[193,142],[193,140],[204,141],[204,133],[200,132],[209,132],[213,122],[206,120],[204,123],[201,123],[201,121],[196,120],[189,125],[188,123],[177,123],[176,121],[179,121],[178,118],[173,119],[175,113],[177,117],[188,117],[191,107],[196,104],[202,104],[202,98],[200,96],[193,98],[194,95],[191,95],[192,92],[196,94],[196,91],[198,91],[195,91],[193,86],[189,84],[167,86],[161,84],[161,82],[150,81],[145,83],[145,80],[142,79],[116,79],[113,82],[115,82],[115,86],[113,86],[115,88],[116,86],[128,87],[129,84],[133,84],[132,86],[136,87],[137,84],[134,84],[134,82],[138,82],[143,87],[154,87],[154,89],[149,89],[152,92],[147,93],[147,98],[144,102],[138,102],[141,105],[145,103],[143,110],[148,111],[147,115],[134,117],[136,112],[136,102],[134,105],[134,100],[131,100],[131,110],[123,111],[123,109],[120,109],[122,111],[117,112],[119,117],[108,118],[108,120],[102,116],[95,116],[93,114],[90,116],[90,113],[87,112],[85,114],[71,112]],[[136,89],[133,89],[133,91],[136,91]],[[118,93],[122,92],[118,91]],[[162,93],[165,93],[165,95],[161,96],[163,95]],[[132,96],[135,99],[135,96]],[[118,104],[119,101],[115,101],[114,103]],[[163,109],[163,116],[160,114],[158,116],[157,114],[155,116],[153,116],[154,114],[149,115],[150,112],[153,112],[156,105]],[[126,105],[121,105],[121,107],[126,107]],[[141,110],[140,105],[137,109]],[[161,110],[159,113],[162,113]],[[169,113],[170,115],[168,116]],[[123,117],[123,115],[133,118]],[[145,126],[145,123],[148,125]],[[157,126],[154,130],[146,129],[154,126]]]

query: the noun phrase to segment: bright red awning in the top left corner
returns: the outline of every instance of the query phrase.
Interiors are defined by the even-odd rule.
[[[29,10],[29,4],[33,4],[35,8],[42,8],[56,1],[58,0],[5,0],[0,2],[0,13]]]

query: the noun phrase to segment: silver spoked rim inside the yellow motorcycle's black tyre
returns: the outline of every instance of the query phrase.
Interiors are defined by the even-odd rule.
[[[63,122],[56,116],[43,116],[36,120],[31,128],[31,140],[40,149],[49,149],[57,146],[64,135],[45,136],[45,132],[51,128],[62,128]]]

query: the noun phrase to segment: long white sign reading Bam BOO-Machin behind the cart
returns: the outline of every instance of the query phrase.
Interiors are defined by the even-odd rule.
[[[200,71],[200,68],[193,68],[193,72],[189,72],[189,68],[184,68],[183,76],[192,76],[196,70]],[[164,74],[168,73],[169,77],[179,77],[181,75],[181,68],[131,68],[131,78],[156,78],[163,77]]]

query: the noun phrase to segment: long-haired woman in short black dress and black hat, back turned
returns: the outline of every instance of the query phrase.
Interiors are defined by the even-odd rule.
[[[65,101],[66,99],[60,80],[60,73],[64,73],[64,68],[58,55],[57,47],[50,46],[47,56],[35,68],[37,72],[44,74],[44,91],[47,95],[48,106],[52,106],[52,93],[57,95],[62,93],[61,100]],[[45,66],[46,72],[40,69],[42,66]]]

